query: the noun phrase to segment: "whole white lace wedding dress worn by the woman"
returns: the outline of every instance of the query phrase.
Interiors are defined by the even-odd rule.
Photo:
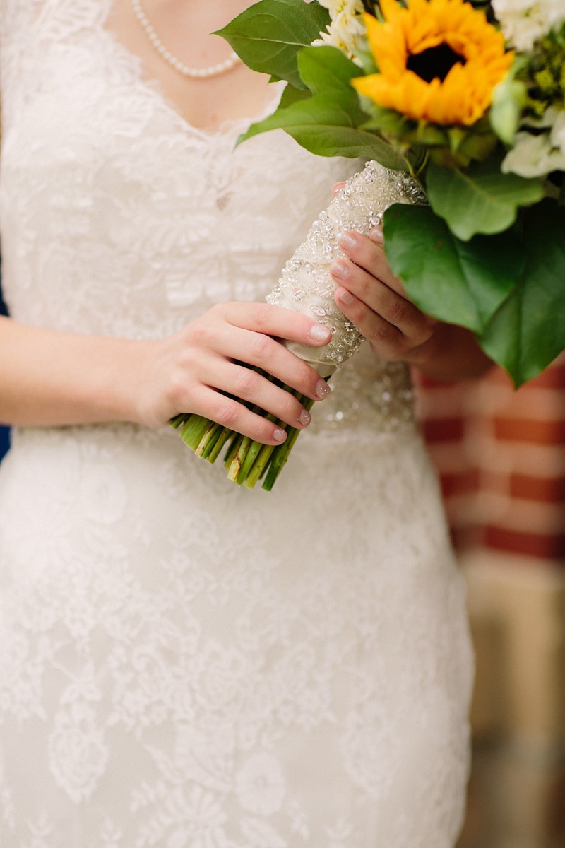
[[[1,5],[14,318],[147,339],[263,299],[352,163],[187,126],[108,0]],[[3,848],[451,848],[462,579],[404,366],[362,349],[333,382],[270,494],[172,428],[14,432]]]

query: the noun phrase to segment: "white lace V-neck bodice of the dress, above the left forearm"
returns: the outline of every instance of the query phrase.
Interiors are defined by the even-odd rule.
[[[189,125],[104,28],[107,2],[16,9],[0,201],[12,314],[151,338],[220,299],[263,299],[355,165],[313,162],[282,132],[235,149],[246,118]]]

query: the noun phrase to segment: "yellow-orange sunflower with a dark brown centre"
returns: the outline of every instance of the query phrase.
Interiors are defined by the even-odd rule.
[[[470,126],[485,114],[513,54],[485,14],[464,0],[381,0],[379,23],[364,14],[379,73],[352,80],[357,92],[413,120]]]

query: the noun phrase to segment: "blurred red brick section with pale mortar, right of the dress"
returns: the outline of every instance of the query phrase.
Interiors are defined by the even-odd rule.
[[[513,391],[506,374],[420,381],[419,411],[459,550],[565,568],[565,358]]]

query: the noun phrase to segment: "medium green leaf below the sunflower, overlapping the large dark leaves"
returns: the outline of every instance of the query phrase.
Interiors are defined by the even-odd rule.
[[[544,196],[539,180],[501,174],[498,158],[468,170],[442,168],[430,162],[426,176],[429,204],[463,241],[475,233],[496,233],[512,226],[518,207]]]

